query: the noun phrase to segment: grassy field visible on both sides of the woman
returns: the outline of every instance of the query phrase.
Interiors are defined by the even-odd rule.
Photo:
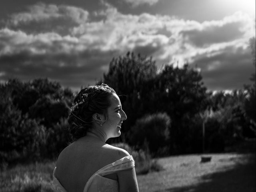
[[[208,154],[159,158],[164,170],[138,175],[140,192],[255,192],[255,153]],[[51,192],[54,162],[1,170],[1,192]]]

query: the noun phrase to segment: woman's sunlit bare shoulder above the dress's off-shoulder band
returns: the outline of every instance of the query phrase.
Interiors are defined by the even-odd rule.
[[[122,148],[118,148],[109,144],[106,144],[103,147],[113,162],[123,157],[130,156],[130,154]]]

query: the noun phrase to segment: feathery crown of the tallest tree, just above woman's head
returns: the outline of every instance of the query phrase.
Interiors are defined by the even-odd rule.
[[[130,94],[140,91],[144,81],[156,76],[156,66],[152,58],[135,56],[128,52],[126,56],[113,58],[104,82],[114,87],[116,92]]]

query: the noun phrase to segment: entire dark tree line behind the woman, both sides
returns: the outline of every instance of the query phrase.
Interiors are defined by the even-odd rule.
[[[250,42],[255,53],[255,38]],[[160,70],[152,57],[128,52],[113,58],[97,84],[116,90],[128,118],[121,137],[108,142],[165,156],[202,152],[203,124],[207,152],[222,152],[244,138],[255,138],[255,74],[251,81],[241,90],[213,94],[188,64]],[[1,84],[0,161],[56,158],[68,145],[68,107],[75,94],[47,78]]]

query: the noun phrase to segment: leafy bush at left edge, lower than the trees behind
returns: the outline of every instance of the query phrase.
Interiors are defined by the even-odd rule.
[[[9,102],[0,103],[0,162],[34,159],[45,144],[45,127],[22,115]]]

